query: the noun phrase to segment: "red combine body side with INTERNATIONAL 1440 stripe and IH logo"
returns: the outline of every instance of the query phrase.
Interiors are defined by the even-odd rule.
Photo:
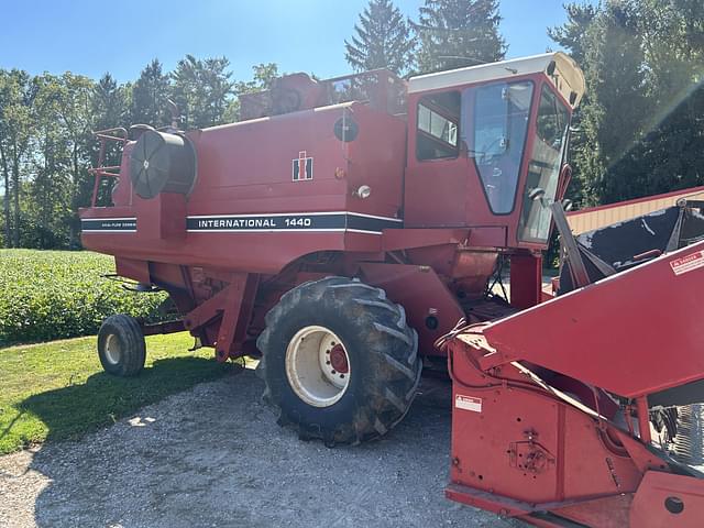
[[[334,135],[354,116],[359,134]],[[134,261],[276,274],[317,251],[377,252],[403,228],[406,122],[362,103],[188,132],[198,153],[193,193],[132,193],[129,158],[114,207],[80,212],[84,246]],[[304,161],[305,177],[297,178]],[[372,194],[360,199],[362,185]]]

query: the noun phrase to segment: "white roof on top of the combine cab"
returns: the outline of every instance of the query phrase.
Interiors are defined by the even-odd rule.
[[[548,70],[551,69],[551,64],[553,63],[554,69],[550,75]],[[482,64],[449,72],[438,72],[437,74],[418,75],[408,80],[408,92],[438,90],[488,80],[505,80],[540,73],[543,73],[550,79],[565,100],[571,101],[572,108],[576,108],[584,95],[584,74],[578,64],[562,52],[512,58],[501,63]]]

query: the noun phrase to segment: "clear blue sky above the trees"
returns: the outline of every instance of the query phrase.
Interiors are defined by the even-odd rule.
[[[333,77],[349,72],[344,40],[367,0],[0,0],[0,68],[32,74],[110,72],[133,80],[153,57],[167,70],[185,54],[227,56],[234,78],[274,62],[283,72]],[[422,0],[397,0],[417,19]],[[501,0],[508,57],[556,47],[563,0]]]

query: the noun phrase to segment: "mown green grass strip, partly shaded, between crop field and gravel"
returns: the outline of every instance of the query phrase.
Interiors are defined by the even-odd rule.
[[[95,337],[0,349],[0,454],[80,438],[232,370],[191,345],[185,332],[146,338],[146,369],[132,378],[102,372]]]

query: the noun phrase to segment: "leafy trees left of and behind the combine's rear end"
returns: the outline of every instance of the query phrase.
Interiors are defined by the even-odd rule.
[[[99,156],[94,132],[167,124],[169,99],[186,128],[235,121],[234,94],[265,89],[278,70],[275,64],[256,65],[245,82],[234,81],[226,57],[187,55],[167,73],[154,59],[125,84],[110,74],[94,81],[72,73],[0,69],[0,246],[80,248],[77,211],[90,202],[95,179],[88,169]],[[114,145],[107,164],[120,164]]]

